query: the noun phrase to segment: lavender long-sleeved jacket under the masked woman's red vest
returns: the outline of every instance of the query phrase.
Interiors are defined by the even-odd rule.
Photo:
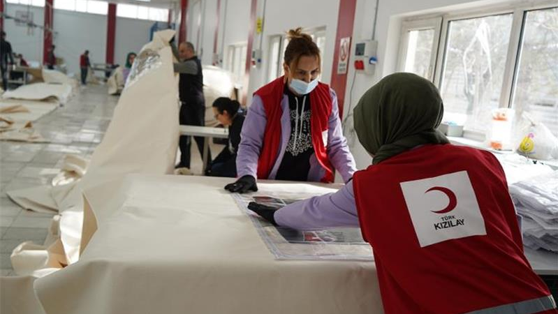
[[[356,171],[356,164],[351,151],[348,150],[347,141],[343,136],[341,121],[339,119],[337,95],[333,89],[330,89],[330,94],[332,98],[332,110],[329,117],[326,150],[331,164],[339,171],[339,174],[341,174],[343,180],[346,182],[353,177],[353,172]],[[283,109],[283,114],[281,115],[281,143],[277,159],[267,179],[275,179],[277,176],[277,170],[281,165],[289,137],[291,136],[291,117],[288,107],[288,96],[286,94],[283,94],[283,98],[281,99],[281,108]],[[260,96],[255,95],[248,109],[248,114],[244,120],[244,125],[242,126],[242,132],[240,134],[242,140],[238,147],[236,159],[238,177],[244,175],[257,177],[258,158],[262,148],[266,124],[267,117],[265,116],[263,102]],[[308,181],[319,182],[324,174],[325,170],[318,163],[316,155],[312,154],[310,157]]]

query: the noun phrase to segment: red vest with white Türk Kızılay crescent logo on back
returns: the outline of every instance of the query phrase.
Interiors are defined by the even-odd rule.
[[[490,152],[426,145],[355,172],[353,187],[386,314],[469,313],[550,295],[523,254]]]

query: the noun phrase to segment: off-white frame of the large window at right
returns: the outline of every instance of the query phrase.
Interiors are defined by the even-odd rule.
[[[477,7],[472,10],[458,10],[452,13],[417,15],[406,18],[401,22],[401,38],[399,39],[397,70],[404,70],[405,67],[406,52],[408,48],[407,45],[409,40],[408,31],[432,29],[432,27],[434,27],[434,21],[439,20],[441,21],[439,24],[439,36],[436,36],[436,29],[434,28],[434,43],[436,46],[435,49],[433,46],[432,51],[436,51],[436,59],[434,59],[434,63],[431,64],[431,66],[434,67],[431,80],[434,82],[436,87],[441,88],[441,84],[443,83],[442,75],[445,66],[444,63],[448,47],[448,30],[450,22],[489,17],[493,15],[511,14],[512,24],[508,43],[508,52],[506,53],[506,62],[504,65],[504,80],[502,82],[499,100],[499,107],[511,108],[513,106],[513,95],[515,94],[515,85],[519,70],[518,66],[522,50],[522,36],[527,13],[532,10],[545,10],[557,7],[558,6],[555,1],[541,1],[538,3],[508,3],[504,6],[485,6]],[[484,141],[485,133],[464,128],[463,137],[471,140]]]

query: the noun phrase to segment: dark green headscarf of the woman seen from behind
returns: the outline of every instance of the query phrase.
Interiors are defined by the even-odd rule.
[[[438,89],[413,73],[384,77],[354,110],[358,140],[374,155],[375,165],[421,144],[449,143],[436,128],[443,117]]]

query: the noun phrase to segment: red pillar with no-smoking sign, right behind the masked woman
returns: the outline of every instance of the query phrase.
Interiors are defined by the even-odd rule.
[[[356,0],[340,0],[339,15],[337,17],[337,36],[335,36],[335,52],[333,54],[333,68],[331,70],[331,88],[337,93],[339,103],[339,117],[343,115],[345,103],[345,89],[347,85],[347,73],[337,74],[337,63],[339,63],[339,43],[341,38],[353,36],[353,24],[355,21]],[[349,48],[350,49],[350,48]],[[349,56],[351,53],[349,51]],[[351,62],[348,62],[350,65]]]

